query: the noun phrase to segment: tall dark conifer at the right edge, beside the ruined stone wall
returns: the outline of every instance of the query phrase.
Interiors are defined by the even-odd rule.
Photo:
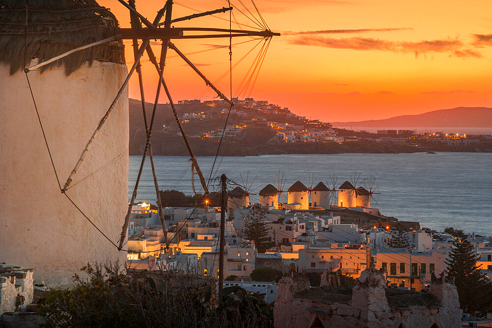
[[[480,256],[467,239],[455,241],[453,245],[446,264],[448,275],[455,278],[460,307],[465,313],[472,315],[476,311],[485,314],[492,309],[492,283],[477,269]]]

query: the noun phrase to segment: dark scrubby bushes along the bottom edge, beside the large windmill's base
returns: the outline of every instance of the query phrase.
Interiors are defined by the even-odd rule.
[[[40,302],[46,327],[273,327],[272,309],[245,290],[243,298],[222,290],[216,306],[215,281],[208,277],[129,274],[117,266],[82,270],[88,279],[75,275],[75,287],[51,290]]]

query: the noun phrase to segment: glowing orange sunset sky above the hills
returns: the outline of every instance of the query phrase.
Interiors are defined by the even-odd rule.
[[[152,21],[165,1],[137,1],[137,10]],[[251,0],[231,0],[234,16],[256,26]],[[111,8],[122,27],[128,11],[116,0],[99,0]],[[296,114],[325,121],[384,119],[458,106],[492,107],[492,2],[489,0],[256,0],[264,20],[282,33],[270,43],[252,96],[289,107]],[[178,0],[173,18],[227,6],[227,1]],[[246,13],[248,17],[239,12]],[[176,23],[176,27],[228,28],[229,14]],[[233,24],[233,28],[238,28]],[[243,29],[246,27],[242,26]],[[249,29],[249,28],[246,28]],[[235,38],[233,43],[249,40]],[[233,64],[259,41],[233,47]],[[174,42],[212,82],[228,71],[228,39]],[[261,44],[233,70],[237,96]],[[125,43],[127,64],[133,61]],[[160,46],[154,45],[156,55]],[[146,100],[154,102],[157,73],[144,57]],[[213,99],[203,81],[172,50],[164,74],[173,100]],[[229,96],[229,77],[217,87]],[[140,98],[136,74],[130,97]],[[160,102],[167,102],[162,92]]]

